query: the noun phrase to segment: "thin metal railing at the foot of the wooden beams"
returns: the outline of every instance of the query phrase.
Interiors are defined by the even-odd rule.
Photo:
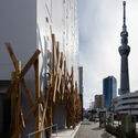
[[[52,128],[54,128],[54,127],[55,127],[55,134],[56,134],[55,137],[57,137],[57,124],[55,124],[55,125],[52,125],[52,126],[46,127],[46,128],[44,128],[44,129],[41,129],[41,130],[33,131],[33,132],[29,134],[29,135],[28,135],[28,138],[35,138],[35,134],[39,134],[39,132],[40,132],[40,135],[41,135],[41,138],[46,138],[46,137],[45,137],[46,130],[52,129]]]

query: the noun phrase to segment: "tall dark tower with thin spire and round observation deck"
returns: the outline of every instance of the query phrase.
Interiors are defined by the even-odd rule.
[[[118,51],[121,56],[121,66],[120,66],[120,89],[119,94],[129,93],[129,73],[128,73],[128,55],[130,52],[128,43],[128,32],[126,26],[126,1],[124,1],[124,23],[123,23],[123,31],[120,33],[121,36],[121,45],[119,46]]]

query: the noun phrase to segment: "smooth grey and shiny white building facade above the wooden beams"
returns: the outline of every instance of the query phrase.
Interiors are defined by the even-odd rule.
[[[10,79],[13,65],[6,50],[11,42],[22,64],[36,47],[41,50],[40,71],[44,74],[51,32],[66,55],[68,68],[77,71],[78,30],[76,0],[2,0],[0,4],[0,79]]]

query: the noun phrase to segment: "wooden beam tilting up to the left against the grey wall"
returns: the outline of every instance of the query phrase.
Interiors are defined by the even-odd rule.
[[[11,61],[13,62],[14,68],[15,68],[15,71],[18,71],[18,59],[17,59],[17,56],[11,47],[11,44],[10,43],[4,43],[4,44],[7,46],[9,54],[10,54]]]

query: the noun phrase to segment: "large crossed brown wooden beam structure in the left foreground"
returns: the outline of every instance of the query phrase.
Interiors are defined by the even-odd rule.
[[[26,119],[24,119],[23,117],[23,112],[21,108],[21,93],[20,93],[20,83],[23,85],[24,89],[25,89],[25,94],[26,94],[26,98],[29,100],[29,105],[30,105],[30,114],[34,114],[35,115],[35,130],[40,129],[40,78],[39,78],[39,54],[40,54],[40,50],[36,50],[35,53],[32,55],[32,57],[29,60],[29,62],[25,64],[25,66],[23,67],[23,70],[21,70],[21,67],[19,66],[19,61],[15,57],[15,54],[13,53],[13,50],[11,47],[10,43],[6,43],[7,50],[10,54],[11,61],[14,65],[15,72],[14,72],[14,76],[12,79],[12,83],[9,87],[9,92],[12,91],[14,93],[11,94],[11,100],[13,104],[12,105],[12,113],[14,113],[14,115],[12,115],[12,138],[19,138],[23,128],[25,127],[25,121]],[[34,71],[35,71],[35,104],[33,104],[33,99],[32,99],[32,95],[31,92],[28,89],[25,83],[24,83],[24,75],[26,74],[26,72],[30,70],[30,67],[34,64]],[[20,68],[19,68],[20,67]],[[13,109],[14,108],[14,109]],[[13,119],[14,118],[14,119]],[[28,120],[29,120],[29,116],[26,116]],[[45,120],[45,119],[44,119]],[[40,138],[41,135],[36,134],[35,138]]]

